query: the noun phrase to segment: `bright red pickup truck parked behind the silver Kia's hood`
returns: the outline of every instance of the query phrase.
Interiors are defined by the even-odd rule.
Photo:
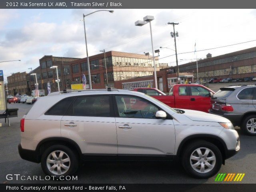
[[[148,91],[150,90],[150,91]],[[172,108],[198,110],[207,112],[212,107],[210,98],[215,93],[203,85],[177,84],[172,86],[169,95],[155,88],[136,88],[134,91],[143,92],[163,102]]]

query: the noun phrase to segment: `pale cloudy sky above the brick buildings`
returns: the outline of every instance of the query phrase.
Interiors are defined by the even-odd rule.
[[[11,73],[29,72],[39,66],[44,55],[86,57],[83,13],[96,9],[1,9],[0,70],[4,79]],[[144,54],[150,52],[150,26],[135,26],[146,15],[154,16],[152,34],[154,50],[160,46],[159,62],[176,65],[172,25],[175,26],[178,64],[218,56],[256,46],[256,10],[230,9],[115,9],[114,13],[96,12],[86,17],[89,56],[100,50]],[[248,43],[227,46],[241,42]],[[212,50],[199,51],[209,48]],[[189,54],[181,54],[192,52]],[[171,56],[170,56],[171,55]],[[21,60],[16,62],[1,62]]]

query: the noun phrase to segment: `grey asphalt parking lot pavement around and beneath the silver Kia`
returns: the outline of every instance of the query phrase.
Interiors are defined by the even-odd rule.
[[[40,164],[22,160],[18,154],[20,143],[20,119],[30,109],[29,104],[8,104],[8,108],[19,108],[18,117],[10,118],[11,126],[0,119],[0,182],[1,183],[62,183],[44,179]],[[256,183],[256,137],[240,132],[241,149],[226,160],[220,173],[245,173],[240,183]],[[38,180],[7,180],[7,174],[20,174],[25,178],[38,176]],[[85,162],[76,174],[78,180],[68,183],[216,183],[214,178],[194,179],[186,174],[180,162]],[[15,178],[15,176],[13,176]],[[235,182],[232,182],[235,183]]]

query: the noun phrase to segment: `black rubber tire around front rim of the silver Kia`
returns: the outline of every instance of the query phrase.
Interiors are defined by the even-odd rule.
[[[196,150],[198,148],[208,148],[215,155],[215,158],[216,158],[215,165],[212,168],[212,170],[210,170],[209,172],[206,172],[206,173],[196,172],[196,170],[194,170],[192,168],[192,166],[190,165],[190,156],[192,155],[194,150]],[[199,160],[198,160],[198,162],[199,162]],[[182,166],[186,170],[186,172],[188,172],[188,174],[190,174],[191,176],[193,176],[195,178],[200,178],[200,179],[210,178],[210,177],[214,176],[220,170],[221,165],[222,165],[222,154],[221,154],[219,148],[210,142],[206,142],[204,140],[194,141],[194,142],[189,143],[186,146],[186,148],[183,150]]]

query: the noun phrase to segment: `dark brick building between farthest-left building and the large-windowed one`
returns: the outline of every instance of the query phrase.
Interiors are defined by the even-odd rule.
[[[36,79],[32,73],[36,73],[36,78],[38,82],[38,89],[44,89],[47,93],[47,83],[50,82],[51,91],[58,91],[58,84],[55,82],[57,80],[56,69],[51,69],[51,66],[58,66],[58,76],[60,79],[60,90],[70,89],[71,86],[71,70],[70,62],[78,60],[79,58],[67,58],[67,57],[55,57],[55,56],[43,56],[40,60],[40,66],[32,70],[26,76],[27,86],[29,94],[35,89]]]

